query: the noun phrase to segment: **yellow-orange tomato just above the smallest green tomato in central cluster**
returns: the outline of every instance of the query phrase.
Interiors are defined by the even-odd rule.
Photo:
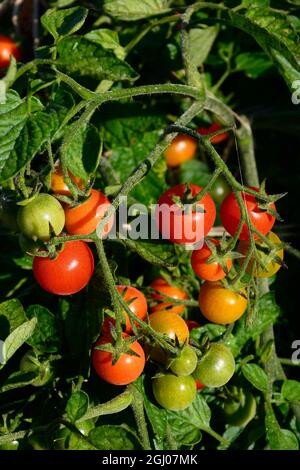
[[[168,310],[151,313],[149,323],[155,331],[173,340],[177,337],[179,342],[184,343],[189,339],[189,329],[185,321],[176,313]]]

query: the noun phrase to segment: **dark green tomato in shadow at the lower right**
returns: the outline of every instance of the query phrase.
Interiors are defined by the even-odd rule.
[[[224,403],[224,416],[228,424],[246,426],[256,414],[256,400],[245,391],[240,400],[228,399]]]

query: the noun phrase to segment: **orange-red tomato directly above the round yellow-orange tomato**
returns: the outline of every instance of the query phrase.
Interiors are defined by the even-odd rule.
[[[218,240],[210,239],[210,241],[215,245],[219,245]],[[204,281],[220,281],[226,277],[226,273],[217,261],[213,263],[207,262],[210,255],[211,250],[206,243],[204,243],[202,248],[194,250],[191,257],[193,271]],[[232,267],[232,260],[230,258],[226,259],[226,266],[229,272]]]

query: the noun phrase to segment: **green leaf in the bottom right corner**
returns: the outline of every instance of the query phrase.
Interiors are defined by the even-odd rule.
[[[298,450],[299,443],[295,434],[289,429],[280,428],[274,411],[268,407],[265,417],[267,439],[272,450]]]

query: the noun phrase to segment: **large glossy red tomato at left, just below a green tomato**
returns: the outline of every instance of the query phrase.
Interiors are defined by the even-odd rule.
[[[88,284],[93,272],[93,253],[80,240],[66,242],[54,260],[38,256],[33,260],[36,281],[51,294],[70,295],[79,292]]]

